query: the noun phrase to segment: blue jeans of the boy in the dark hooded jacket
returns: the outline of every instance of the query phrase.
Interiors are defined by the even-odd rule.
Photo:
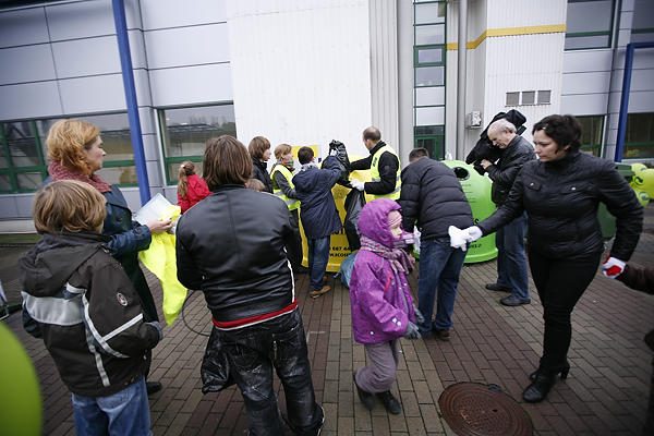
[[[145,378],[107,397],[72,395],[77,436],[152,435]]]

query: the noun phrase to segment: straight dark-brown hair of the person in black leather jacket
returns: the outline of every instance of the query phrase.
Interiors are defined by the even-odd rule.
[[[252,159],[239,140],[221,135],[207,141],[203,175],[209,190],[223,184],[244,185],[251,174]]]

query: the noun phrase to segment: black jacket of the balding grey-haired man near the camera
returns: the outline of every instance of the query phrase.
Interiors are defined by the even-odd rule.
[[[536,158],[534,147],[520,135],[516,135],[509,146],[502,150],[497,164],[486,168],[486,172],[493,180],[491,198],[496,205],[501,205],[509,196],[513,181],[522,169],[522,166]]]

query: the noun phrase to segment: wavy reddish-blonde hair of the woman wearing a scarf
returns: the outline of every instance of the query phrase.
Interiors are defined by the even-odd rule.
[[[90,174],[85,149],[89,149],[100,130],[88,121],[59,120],[50,128],[46,144],[48,159],[61,164],[74,172]]]

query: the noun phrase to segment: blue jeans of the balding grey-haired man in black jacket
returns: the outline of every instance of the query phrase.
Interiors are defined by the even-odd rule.
[[[497,230],[497,284],[510,289],[513,296],[529,299],[524,233],[526,216],[516,218]]]

